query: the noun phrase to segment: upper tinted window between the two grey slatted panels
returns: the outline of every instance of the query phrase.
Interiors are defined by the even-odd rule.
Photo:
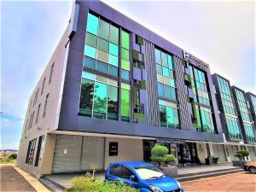
[[[172,55],[160,49],[154,49],[156,73],[158,81],[158,96],[177,100]]]

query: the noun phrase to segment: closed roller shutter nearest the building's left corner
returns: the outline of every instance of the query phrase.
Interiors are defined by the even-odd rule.
[[[80,166],[82,136],[56,135],[52,172],[77,172]]]

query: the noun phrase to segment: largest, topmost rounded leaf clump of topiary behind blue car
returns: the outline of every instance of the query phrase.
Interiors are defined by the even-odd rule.
[[[155,145],[154,148],[151,149],[150,159],[153,162],[157,162],[160,166],[161,162],[166,161],[166,154],[168,154],[168,148],[162,145]]]

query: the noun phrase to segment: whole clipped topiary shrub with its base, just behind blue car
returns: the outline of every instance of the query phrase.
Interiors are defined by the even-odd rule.
[[[177,166],[166,166],[166,162],[175,161],[175,157],[172,154],[168,154],[168,148],[157,144],[151,149],[151,155],[150,159],[157,163],[157,166],[166,176],[177,177]]]

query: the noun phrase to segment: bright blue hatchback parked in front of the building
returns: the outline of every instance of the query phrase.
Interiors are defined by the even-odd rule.
[[[183,192],[174,178],[145,162],[116,162],[108,166],[105,182],[123,181],[140,192]]]

